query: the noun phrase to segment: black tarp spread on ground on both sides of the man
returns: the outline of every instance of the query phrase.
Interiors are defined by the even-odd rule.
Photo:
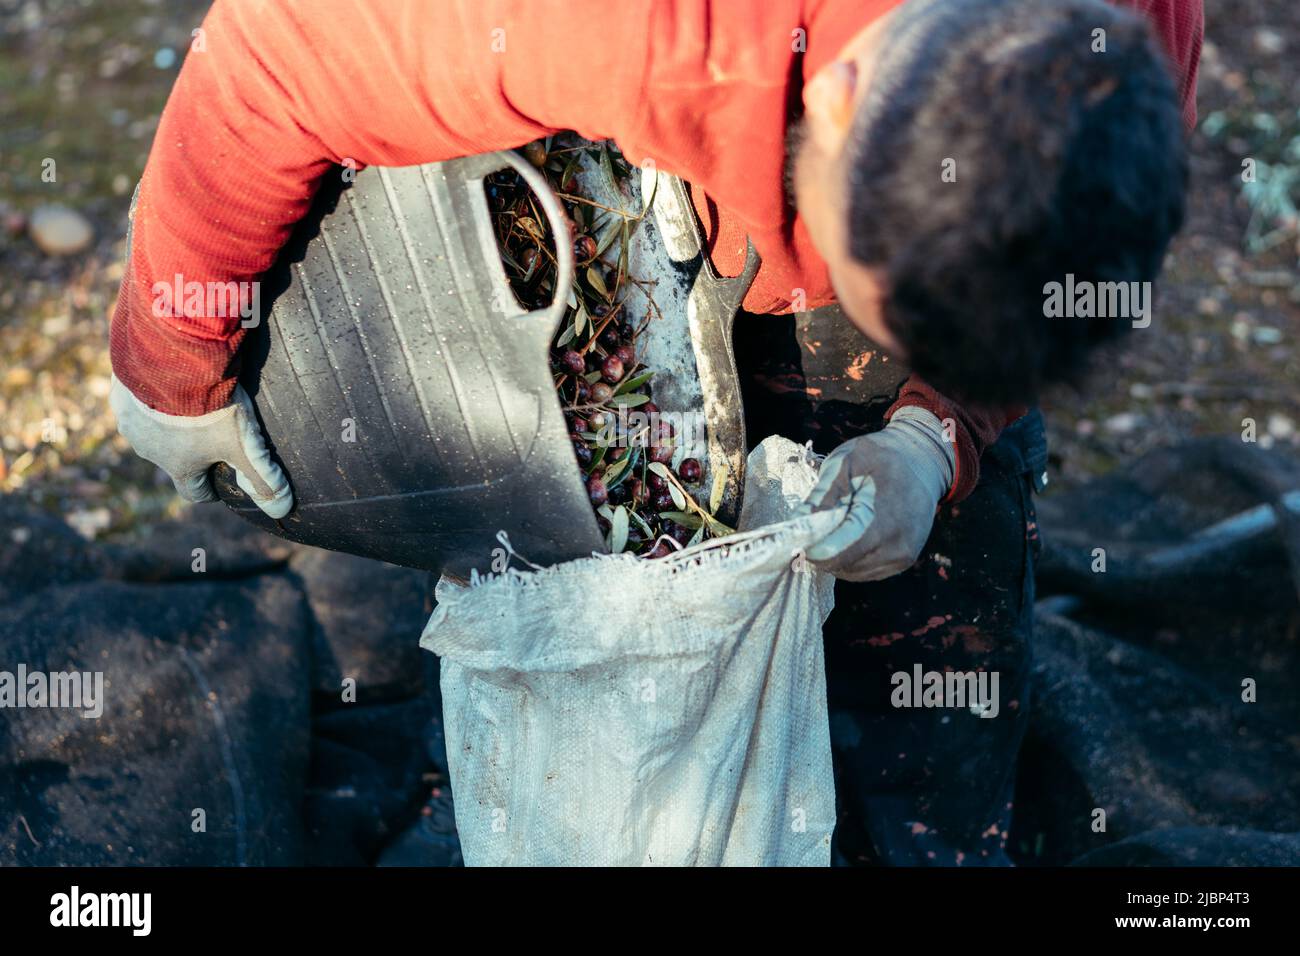
[[[1019,862],[1296,862],[1295,537],[1196,537],[1296,486],[1292,458],[1205,440],[1040,501],[1050,613]],[[416,646],[424,575],[289,548],[222,509],[131,545],[12,499],[0,516],[0,670],[109,683],[98,721],[0,710],[0,862],[459,862],[437,669]]]

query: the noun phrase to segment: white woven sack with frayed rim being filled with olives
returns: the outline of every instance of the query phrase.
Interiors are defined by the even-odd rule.
[[[827,865],[835,783],[822,624],[789,520],[816,471],[753,451],[741,527],[659,561],[597,555],[442,581],[456,827],[469,865]]]

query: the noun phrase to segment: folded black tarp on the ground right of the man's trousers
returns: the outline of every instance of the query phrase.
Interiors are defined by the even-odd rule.
[[[1206,438],[1040,502],[1022,862],[1295,860],[1300,537],[1277,515],[1297,488],[1291,455]]]

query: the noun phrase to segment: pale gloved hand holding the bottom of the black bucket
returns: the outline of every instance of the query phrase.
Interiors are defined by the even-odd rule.
[[[117,415],[117,431],[135,454],[170,475],[186,501],[217,501],[208,470],[225,462],[268,516],[278,520],[292,509],[289,479],[270,459],[252,402],[240,386],[235,385],[225,408],[191,418],[150,408],[113,376],[108,403]]]

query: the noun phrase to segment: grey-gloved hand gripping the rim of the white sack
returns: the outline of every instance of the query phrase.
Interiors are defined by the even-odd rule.
[[[939,419],[900,408],[881,431],[844,442],[822,463],[802,512],[842,505],[849,511],[805,557],[848,581],[906,571],[926,546],[954,471],[956,451]]]

